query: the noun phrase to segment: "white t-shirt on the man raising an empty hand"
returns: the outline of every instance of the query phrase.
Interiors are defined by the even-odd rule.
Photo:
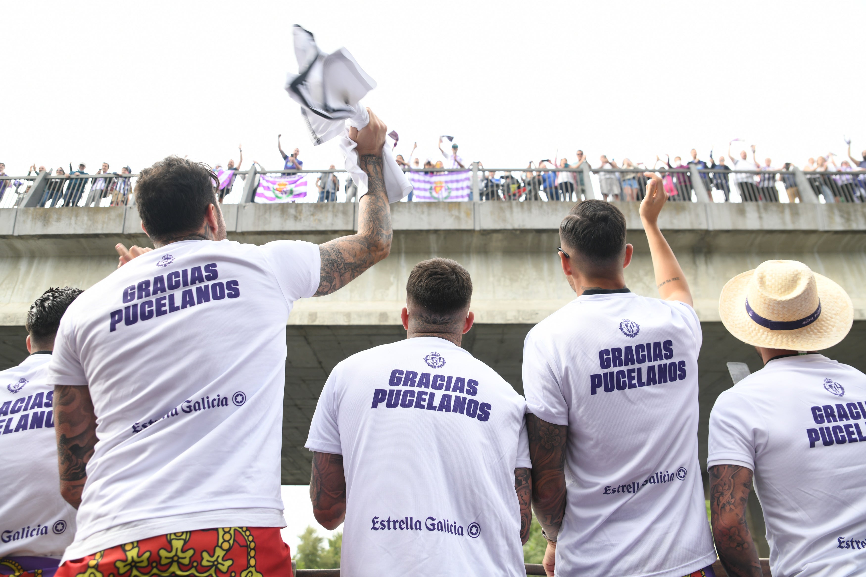
[[[715,561],[698,465],[692,307],[582,295],[527,335],[527,412],[568,426],[557,574],[682,577]]]

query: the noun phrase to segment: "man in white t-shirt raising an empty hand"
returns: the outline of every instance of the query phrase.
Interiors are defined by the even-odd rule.
[[[535,325],[523,348],[548,575],[712,575],[698,465],[701,324],[658,228],[662,179],[644,176],[640,214],[662,299],[625,287],[632,247],[616,205],[581,202],[559,225],[578,298]]]

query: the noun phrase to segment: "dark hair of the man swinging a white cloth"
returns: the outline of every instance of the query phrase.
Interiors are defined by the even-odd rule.
[[[153,240],[197,231],[209,204],[216,204],[210,166],[180,157],[165,157],[141,171],[135,204],[141,222]]]

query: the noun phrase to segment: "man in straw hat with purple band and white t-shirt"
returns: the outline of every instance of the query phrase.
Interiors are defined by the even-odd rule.
[[[866,375],[815,352],[848,334],[851,299],[801,262],[768,260],[728,281],[719,312],[765,364],[719,395],[709,419],[713,533],[727,574],[761,575],[745,516],[753,478],[774,576],[863,574]]]

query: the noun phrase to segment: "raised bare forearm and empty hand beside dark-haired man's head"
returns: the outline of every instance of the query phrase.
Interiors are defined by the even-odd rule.
[[[650,178],[647,182],[647,194],[641,202],[641,221],[643,230],[650,243],[652,267],[656,272],[658,292],[665,300],[679,300],[692,305],[692,292],[688,290],[686,275],[682,273],[674,251],[664,240],[662,231],[658,228],[658,214],[668,200],[668,193],[662,186],[662,177],[655,172],[644,172],[643,176]]]

